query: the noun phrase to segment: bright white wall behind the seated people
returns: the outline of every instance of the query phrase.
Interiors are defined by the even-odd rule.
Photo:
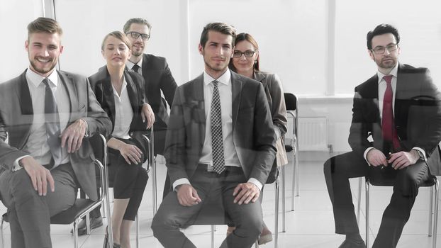
[[[26,26],[43,15],[43,1],[0,0],[0,81],[28,66]],[[206,23],[225,21],[251,33],[262,69],[279,74],[284,90],[299,96],[300,116],[328,117],[328,141],[335,151],[349,150],[352,92],[375,73],[366,33],[379,23],[400,31],[401,61],[429,67],[441,87],[440,9],[437,0],[55,0],[65,31],[60,67],[86,76],[104,65],[104,35],[122,30],[131,17],[152,23],[147,52],[167,58],[178,84],[202,72],[197,45]]]

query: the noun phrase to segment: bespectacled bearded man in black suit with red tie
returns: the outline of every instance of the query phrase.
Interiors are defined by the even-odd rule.
[[[333,203],[335,232],[346,235],[340,248],[366,247],[359,235],[350,178],[393,179],[373,247],[396,247],[418,187],[441,171],[440,93],[428,69],[398,63],[398,30],[381,24],[367,34],[376,74],[355,87],[349,143],[352,152],[328,159],[324,173]]]

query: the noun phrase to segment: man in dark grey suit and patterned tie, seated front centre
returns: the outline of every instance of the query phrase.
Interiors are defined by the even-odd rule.
[[[203,28],[205,71],[179,86],[170,113],[165,158],[174,191],[152,221],[164,247],[195,247],[179,228],[208,218],[217,199],[237,229],[221,247],[251,247],[262,230],[257,201],[276,155],[275,133],[262,84],[228,69],[235,29]]]

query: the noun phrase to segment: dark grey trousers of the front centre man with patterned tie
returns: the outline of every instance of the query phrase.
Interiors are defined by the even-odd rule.
[[[180,205],[177,192],[170,192],[153,218],[153,235],[166,248],[196,247],[179,228],[197,222],[208,224],[208,219],[213,218],[213,215],[224,216],[226,212],[235,223],[236,230],[228,235],[220,247],[251,247],[262,231],[262,206],[259,201],[242,205],[233,203],[234,188],[246,181],[240,167],[227,167],[223,173],[217,174],[207,171],[206,165],[199,165],[190,182],[201,198],[201,203],[190,207]],[[220,210],[219,205],[223,206]],[[217,209],[217,212],[201,215],[202,212],[209,213],[206,210],[210,208]]]

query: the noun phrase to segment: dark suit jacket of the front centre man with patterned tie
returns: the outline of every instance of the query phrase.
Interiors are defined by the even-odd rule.
[[[271,112],[262,84],[231,72],[233,142],[247,179],[265,184],[276,148]],[[205,140],[203,75],[179,86],[170,113],[164,156],[172,182],[191,179]]]

